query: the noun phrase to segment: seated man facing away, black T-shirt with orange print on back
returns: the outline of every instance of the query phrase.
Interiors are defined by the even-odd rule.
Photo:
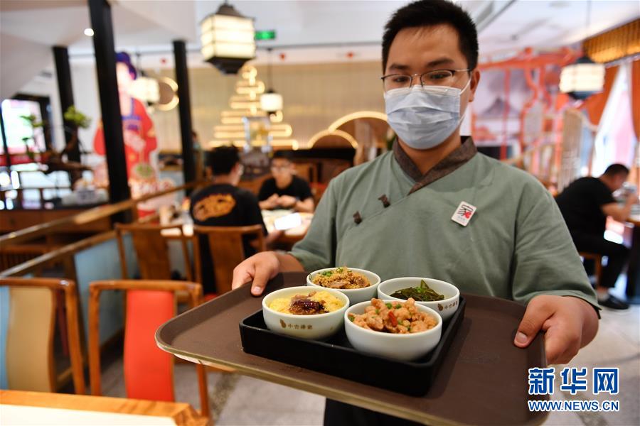
[[[267,244],[277,239],[281,234],[280,231],[274,231],[267,235],[267,228],[262,222],[262,214],[255,195],[236,186],[240,182],[243,171],[238,150],[233,146],[215,148],[207,153],[206,167],[212,176],[211,185],[191,195],[190,214],[193,223],[203,226],[260,224],[267,236]],[[247,236],[243,241],[247,257],[254,255],[257,251],[252,246],[250,238]],[[200,239],[200,247],[204,293],[215,293],[209,244],[203,236]]]

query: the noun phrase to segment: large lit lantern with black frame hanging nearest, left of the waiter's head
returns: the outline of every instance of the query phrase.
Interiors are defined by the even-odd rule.
[[[201,53],[223,74],[237,74],[255,58],[253,19],[242,16],[227,1],[200,23]]]

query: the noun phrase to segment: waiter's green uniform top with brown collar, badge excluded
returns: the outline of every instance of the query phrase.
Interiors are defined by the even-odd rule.
[[[476,207],[466,226],[452,220],[460,202]],[[528,173],[477,153],[470,137],[425,175],[397,142],[341,173],[290,253],[306,271],[348,266],[382,280],[421,276],[522,303],[571,295],[597,307],[553,197]]]

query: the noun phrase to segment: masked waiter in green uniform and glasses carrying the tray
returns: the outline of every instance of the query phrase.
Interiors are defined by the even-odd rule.
[[[281,271],[347,265],[383,280],[423,276],[527,305],[513,344],[545,333],[549,364],[569,362],[598,327],[597,300],[553,197],[527,173],[476,152],[460,123],[480,80],[471,17],[446,0],[402,7],[383,35],[393,151],[331,181],[306,237],[235,268],[260,295]],[[375,84],[375,82],[371,82]],[[328,400],[325,421],[395,417]],[[400,421],[400,420],[398,420]]]

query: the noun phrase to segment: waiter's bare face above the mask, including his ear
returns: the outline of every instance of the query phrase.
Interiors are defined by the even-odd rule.
[[[469,67],[458,43],[457,31],[449,25],[405,28],[391,43],[385,75],[406,74],[417,76],[412,84],[420,84],[424,72],[432,70],[464,70]],[[464,89],[469,80],[469,89],[462,93],[460,112],[474,99],[480,79],[477,70],[456,72],[450,86]]]

